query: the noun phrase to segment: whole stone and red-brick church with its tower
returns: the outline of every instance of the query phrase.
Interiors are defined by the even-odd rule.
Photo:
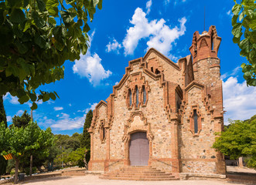
[[[172,62],[155,49],[129,61],[94,109],[89,170],[150,166],[170,173],[225,173],[211,146],[224,129],[215,26],[193,34],[191,55]]]

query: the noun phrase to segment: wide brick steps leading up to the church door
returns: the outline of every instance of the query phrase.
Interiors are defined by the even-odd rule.
[[[100,178],[108,180],[179,180],[172,173],[146,166],[122,167],[119,170],[104,173]]]

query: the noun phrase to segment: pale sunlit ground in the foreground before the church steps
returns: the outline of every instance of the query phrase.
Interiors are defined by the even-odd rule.
[[[133,181],[133,180],[101,180],[97,176],[84,177],[51,177],[47,179],[29,180],[26,185],[234,185],[217,180],[171,180],[171,181]],[[235,183],[241,185],[244,183]]]

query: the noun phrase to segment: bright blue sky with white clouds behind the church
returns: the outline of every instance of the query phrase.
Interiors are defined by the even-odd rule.
[[[193,32],[203,32],[204,7],[206,30],[216,25],[222,38],[218,56],[224,80],[224,122],[227,119],[248,119],[256,114],[256,88],[247,87],[241,72],[246,59],[232,42],[230,0],[103,0],[90,23],[90,49],[75,62],[65,62],[65,77],[39,89],[56,91],[60,99],[39,102],[33,111],[34,120],[53,133],[82,133],[84,118],[101,99],[107,99],[112,86],[125,74],[128,61],[145,55],[154,47],[173,62],[189,55]],[[9,94],[4,97],[9,124],[12,116],[21,116],[29,105],[19,105]]]

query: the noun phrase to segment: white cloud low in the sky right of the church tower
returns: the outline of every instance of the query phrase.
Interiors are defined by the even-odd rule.
[[[247,87],[246,82],[239,83],[237,78],[231,76],[223,82],[224,90],[224,123],[227,119],[250,119],[256,114],[256,88]]]

